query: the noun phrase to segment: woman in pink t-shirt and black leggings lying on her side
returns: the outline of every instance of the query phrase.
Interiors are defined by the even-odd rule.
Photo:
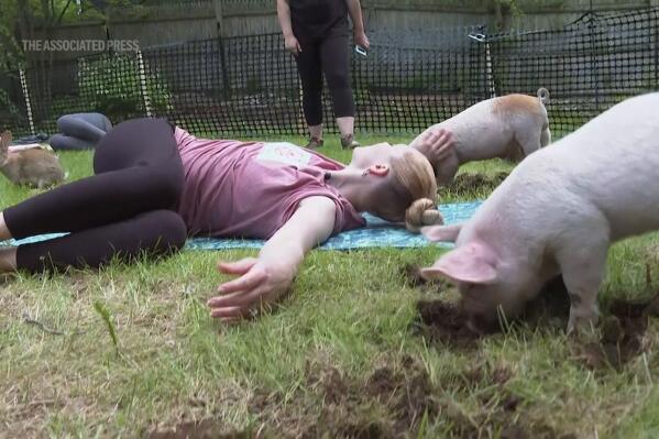
[[[94,176],[0,212],[0,240],[69,233],[0,250],[0,272],[161,256],[188,235],[267,239],[259,257],[219,264],[239,277],[208,305],[234,320],[282,296],[311,248],[364,226],[359,212],[410,230],[441,220],[428,158],[450,147],[450,136],[431,132],[417,150],[358,147],[344,166],[289,143],[202,140],[163,120],[127,121],[99,142]]]

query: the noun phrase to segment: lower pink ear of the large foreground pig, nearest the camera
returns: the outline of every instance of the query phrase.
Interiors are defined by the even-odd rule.
[[[446,277],[469,284],[493,284],[498,275],[492,259],[486,245],[469,243],[446,253],[432,266],[421,268],[420,274],[426,279]]]

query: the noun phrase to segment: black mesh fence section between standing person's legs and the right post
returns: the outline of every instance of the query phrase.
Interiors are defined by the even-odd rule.
[[[369,56],[353,56],[358,125],[419,132],[485,98],[484,46],[469,36],[480,32],[373,33]],[[325,109],[331,109],[329,102]],[[331,121],[327,111],[326,120]]]

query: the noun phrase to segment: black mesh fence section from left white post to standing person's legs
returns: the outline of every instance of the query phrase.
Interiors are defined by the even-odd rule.
[[[146,77],[163,85],[157,116],[212,134],[300,130],[297,70],[278,34],[153,47],[143,57]]]

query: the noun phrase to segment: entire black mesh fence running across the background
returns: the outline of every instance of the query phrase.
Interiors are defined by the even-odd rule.
[[[546,87],[560,135],[627,97],[659,89],[658,15],[659,9],[587,14],[561,30],[514,34],[371,32],[366,57],[351,51],[356,128],[417,133],[479,100]],[[113,122],[165,117],[212,136],[306,133],[295,61],[279,34],[102,53],[34,65],[24,77],[26,87],[19,73],[0,75],[0,128],[19,135],[54,133],[59,116],[80,111]],[[325,120],[336,132],[325,96]]]

